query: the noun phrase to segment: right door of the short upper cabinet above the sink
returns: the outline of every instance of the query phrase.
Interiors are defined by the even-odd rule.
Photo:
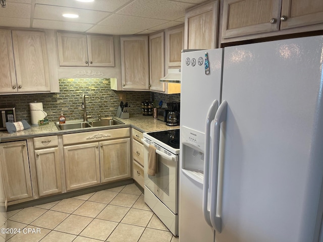
[[[114,67],[115,47],[113,36],[87,35],[90,67]]]

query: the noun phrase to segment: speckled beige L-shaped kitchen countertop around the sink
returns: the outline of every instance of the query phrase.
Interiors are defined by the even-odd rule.
[[[167,126],[166,123],[161,120],[153,118],[152,116],[143,116],[141,114],[130,115],[130,118],[127,118],[127,119],[122,119],[119,117],[114,117],[114,118],[123,122],[124,125],[59,131],[55,126],[55,122],[49,122],[48,125],[31,126],[31,129],[19,131],[13,134],[9,134],[7,131],[0,131],[0,143],[10,141],[10,140],[17,140],[17,139],[37,137],[37,136],[71,134],[71,133],[88,132],[88,131],[96,131],[96,130],[116,129],[116,128],[123,128],[123,127],[132,127],[143,133],[179,128],[179,126]],[[104,117],[102,119],[104,119]]]

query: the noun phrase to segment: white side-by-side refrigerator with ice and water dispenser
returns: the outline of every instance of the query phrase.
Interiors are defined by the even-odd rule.
[[[180,242],[323,241],[322,62],[323,36],[182,53]]]

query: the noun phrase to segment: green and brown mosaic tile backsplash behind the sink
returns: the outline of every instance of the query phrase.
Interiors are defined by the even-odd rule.
[[[141,113],[141,102],[156,99],[163,100],[163,107],[170,100],[180,101],[180,94],[159,94],[139,91],[111,90],[110,79],[60,79],[59,93],[0,95],[0,106],[16,106],[17,120],[26,119],[31,123],[30,102],[42,102],[50,122],[58,120],[61,112],[67,120],[82,119],[82,94],[87,96],[87,114],[93,117],[115,116],[120,104],[119,94],[125,94],[131,105],[131,114]]]

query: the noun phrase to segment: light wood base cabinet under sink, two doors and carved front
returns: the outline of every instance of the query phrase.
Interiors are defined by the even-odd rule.
[[[130,129],[63,135],[66,190],[131,177]]]

